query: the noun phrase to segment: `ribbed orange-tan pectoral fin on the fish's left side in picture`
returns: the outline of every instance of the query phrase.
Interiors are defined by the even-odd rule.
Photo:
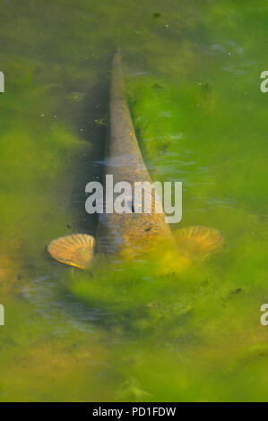
[[[48,245],[48,253],[57,261],[76,268],[89,269],[95,239],[87,234],[60,236]]]

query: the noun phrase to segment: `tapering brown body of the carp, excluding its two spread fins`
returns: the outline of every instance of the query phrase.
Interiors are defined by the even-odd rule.
[[[124,76],[121,56],[117,52],[113,58],[110,107],[109,136],[106,147],[106,165],[104,176],[112,175],[114,185],[125,181],[132,186],[129,197],[132,213],[103,213],[99,215],[97,247],[100,251],[137,254],[144,246],[157,245],[163,238],[174,241],[169,224],[165,221],[164,211],[156,212],[159,202],[157,193],[152,189],[151,212],[134,212],[134,184],[137,182],[151,185],[151,177],[143,161],[143,155],[137,141],[134,125],[125,96]],[[105,185],[105,177],[104,177]],[[148,189],[148,188],[147,188]],[[143,197],[145,200],[145,196]]]

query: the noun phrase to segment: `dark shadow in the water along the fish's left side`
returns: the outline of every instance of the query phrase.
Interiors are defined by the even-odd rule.
[[[98,216],[89,215],[85,211],[85,186],[90,181],[101,181],[105,142],[108,131],[108,92],[109,72],[101,77],[101,81],[86,92],[85,99],[79,105],[79,114],[75,116],[76,126],[82,140],[91,142],[91,150],[82,154],[73,169],[73,192],[70,206],[77,215],[75,229],[95,236]],[[77,112],[77,111],[76,111]]]

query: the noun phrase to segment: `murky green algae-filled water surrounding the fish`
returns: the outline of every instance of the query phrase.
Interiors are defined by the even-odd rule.
[[[267,400],[267,2],[0,5],[0,400]],[[225,237],[177,274],[46,253],[94,235],[84,186],[101,173],[118,45],[151,177],[183,182],[172,229]]]

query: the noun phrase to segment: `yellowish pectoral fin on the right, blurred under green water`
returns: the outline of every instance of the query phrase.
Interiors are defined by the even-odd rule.
[[[219,252],[224,245],[220,231],[201,225],[177,229],[174,237],[179,252],[190,260],[202,260]]]

